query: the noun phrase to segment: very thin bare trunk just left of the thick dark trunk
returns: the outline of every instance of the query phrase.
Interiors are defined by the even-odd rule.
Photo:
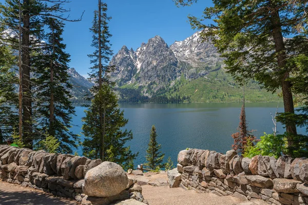
[[[19,6],[19,93],[18,93],[18,134],[23,140],[23,69],[22,69],[22,5],[18,1]]]

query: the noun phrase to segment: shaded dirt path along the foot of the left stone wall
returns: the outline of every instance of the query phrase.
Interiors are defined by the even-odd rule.
[[[0,204],[1,205],[64,205],[76,204],[76,201],[55,197],[20,185],[4,182],[0,179]]]

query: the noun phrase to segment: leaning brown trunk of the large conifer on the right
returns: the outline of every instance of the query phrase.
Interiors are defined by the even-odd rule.
[[[278,11],[273,12],[271,16],[271,21],[273,25],[272,34],[275,41],[278,66],[281,70],[285,70],[284,74],[281,76],[281,88],[282,88],[284,112],[294,113],[293,96],[291,91],[292,85],[290,81],[287,81],[290,74],[286,69],[286,53],[285,53],[285,46],[283,42],[280,17]],[[292,147],[293,146],[292,135],[297,134],[296,125],[295,123],[288,123],[285,126],[286,126],[286,132],[291,134],[291,136],[287,138],[287,144],[288,147]]]

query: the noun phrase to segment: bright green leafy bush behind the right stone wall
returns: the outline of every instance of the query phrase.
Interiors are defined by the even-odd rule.
[[[285,135],[274,135],[274,134],[266,134],[260,137],[260,141],[257,142],[256,146],[253,146],[252,141],[248,141],[245,146],[244,157],[252,158],[256,155],[263,156],[274,156],[275,158],[279,158],[286,151],[285,146]]]

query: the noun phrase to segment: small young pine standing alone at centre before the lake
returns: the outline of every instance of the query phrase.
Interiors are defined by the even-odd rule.
[[[145,166],[149,167],[152,170],[155,170],[157,167],[163,167],[163,159],[165,154],[162,154],[159,150],[161,145],[157,143],[157,134],[155,126],[152,126],[150,133],[149,147],[146,150],[147,155],[145,156],[146,163]]]

